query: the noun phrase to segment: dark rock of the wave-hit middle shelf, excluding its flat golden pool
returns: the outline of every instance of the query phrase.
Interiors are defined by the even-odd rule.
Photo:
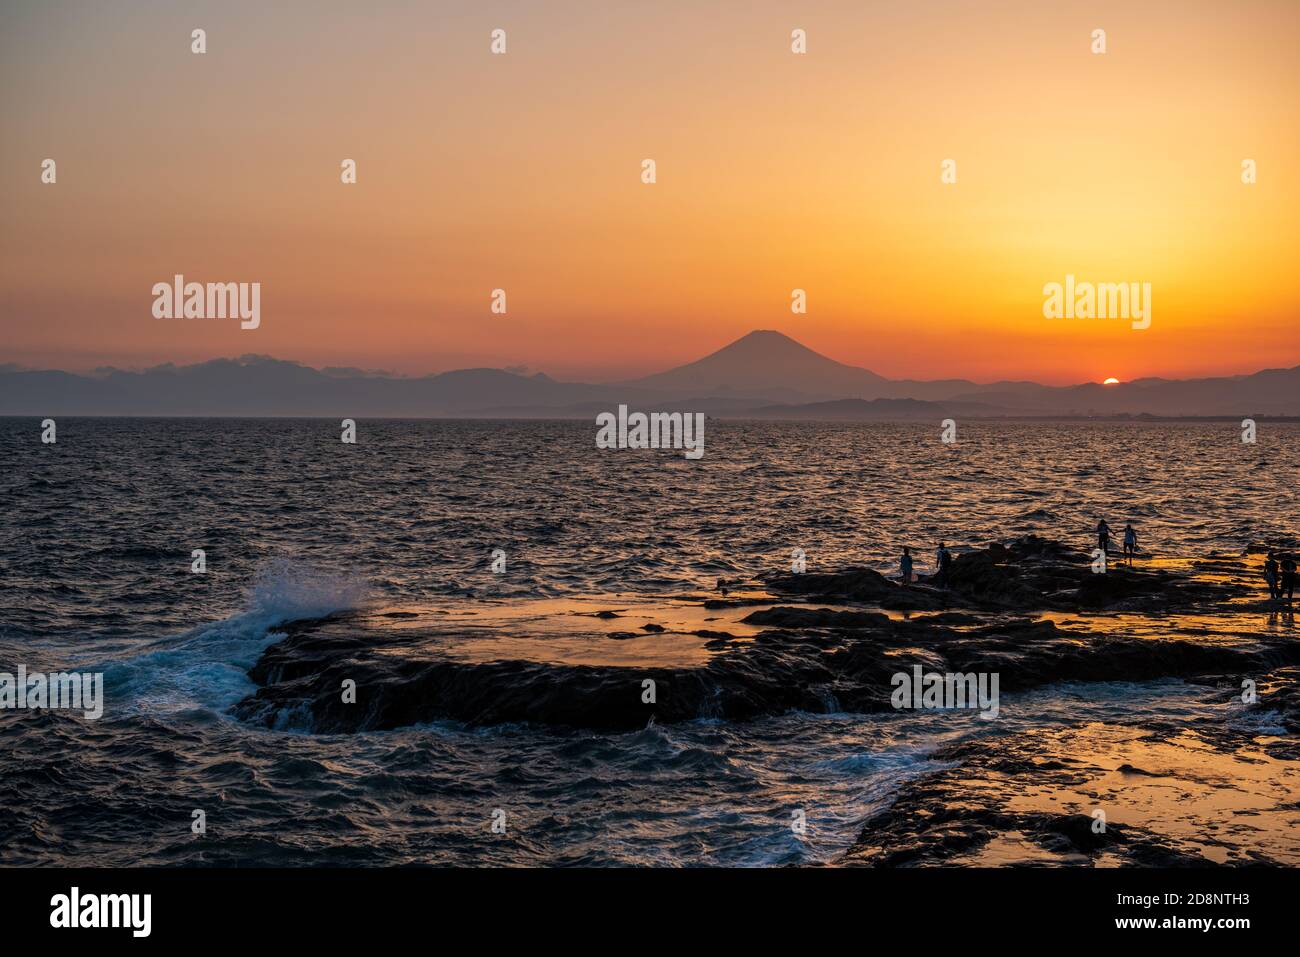
[[[916,664],[996,672],[1002,693],[1053,681],[1262,679],[1300,664],[1300,642],[1256,627],[1260,603],[1243,581],[1245,559],[1210,564],[1096,575],[1084,553],[1031,536],[959,555],[948,589],[902,586],[866,568],[774,576],[766,593],[684,599],[707,605],[722,624],[592,632],[593,661],[582,664],[467,658],[452,653],[455,624],[436,619],[364,632],[347,616],[298,623],[250,671],[261,687],[235,714],[332,733],[439,719],[621,731],[651,720],[888,710],[892,676]],[[1228,564],[1239,573],[1226,573]],[[749,635],[728,631],[727,612]],[[1150,620],[1161,635],[1139,627]],[[575,618],[573,632],[584,627]],[[649,649],[644,642],[682,640],[698,651],[689,663],[663,664],[653,654],[630,666],[601,662],[599,649],[612,641]],[[355,683],[355,701],[341,693],[346,681]]]

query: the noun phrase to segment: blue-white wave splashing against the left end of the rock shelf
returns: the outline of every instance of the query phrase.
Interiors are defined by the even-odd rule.
[[[280,640],[280,625],[359,609],[368,597],[369,585],[356,573],[274,558],[255,573],[239,614],[83,670],[104,672],[109,716],[195,707],[225,711],[256,690],[248,668]]]

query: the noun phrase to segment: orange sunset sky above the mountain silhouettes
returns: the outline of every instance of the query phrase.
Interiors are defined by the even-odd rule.
[[[1295,0],[6,0],[0,363],[1295,365],[1297,42]],[[261,326],[155,319],[176,273],[260,282]],[[1150,329],[1044,319],[1067,273],[1152,283]]]

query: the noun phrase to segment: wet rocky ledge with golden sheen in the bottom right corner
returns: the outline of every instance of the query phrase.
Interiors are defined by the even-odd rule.
[[[1275,672],[1254,706],[1232,679],[1206,680],[1226,715],[1216,720],[1135,711],[941,748],[935,772],[866,820],[841,863],[1295,866],[1297,677]]]

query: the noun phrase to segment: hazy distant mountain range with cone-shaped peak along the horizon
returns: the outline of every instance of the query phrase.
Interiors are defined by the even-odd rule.
[[[0,415],[588,417],[624,403],[746,419],[932,420],[945,416],[1296,416],[1300,365],[1218,378],[1102,386],[889,380],[776,332],[758,330],[630,382],[460,369],[399,377],[313,369],[268,356],[92,374],[0,367]]]

